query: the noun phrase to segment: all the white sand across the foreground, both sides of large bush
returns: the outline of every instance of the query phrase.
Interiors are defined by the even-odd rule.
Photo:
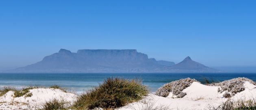
[[[255,99],[256,86],[245,82],[245,90],[237,93],[231,99],[234,100],[248,100]],[[169,93],[168,97],[160,97],[154,94],[149,94],[147,97],[139,102],[133,102],[118,108],[118,110],[140,110],[147,104],[152,104],[154,107],[165,106],[173,110],[204,110],[209,106],[219,106],[227,99],[222,95],[225,93],[218,93],[218,87],[206,86],[197,82],[193,82],[190,87],[187,87],[182,92],[187,93],[183,98],[175,97]],[[13,98],[13,91],[9,91],[4,96],[0,97],[0,110],[22,110],[30,109],[31,107],[40,107],[46,101],[53,98],[63,99],[67,102],[74,102],[76,95],[73,93],[65,93],[59,89],[31,89],[32,97],[15,97]]]

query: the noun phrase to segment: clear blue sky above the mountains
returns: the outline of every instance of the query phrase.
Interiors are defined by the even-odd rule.
[[[0,70],[68,49],[256,66],[255,0],[1,0]]]

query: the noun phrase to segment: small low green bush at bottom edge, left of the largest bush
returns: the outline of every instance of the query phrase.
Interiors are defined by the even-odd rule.
[[[41,110],[68,110],[65,107],[65,104],[67,103],[63,100],[59,101],[58,99],[52,99],[51,101],[46,102]]]

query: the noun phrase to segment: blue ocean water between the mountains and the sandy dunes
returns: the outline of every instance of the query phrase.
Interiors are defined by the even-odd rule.
[[[70,91],[83,92],[98,86],[109,77],[140,78],[150,91],[155,92],[162,85],[181,78],[195,78],[205,83],[223,81],[237,77],[246,77],[256,81],[256,73],[1,73],[0,87],[26,87],[59,85]]]

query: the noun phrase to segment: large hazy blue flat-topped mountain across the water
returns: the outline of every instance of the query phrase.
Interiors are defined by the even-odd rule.
[[[11,72],[161,72],[173,66],[170,61],[156,61],[135,49],[105,50],[84,49],[72,53],[60,49],[42,61]]]

